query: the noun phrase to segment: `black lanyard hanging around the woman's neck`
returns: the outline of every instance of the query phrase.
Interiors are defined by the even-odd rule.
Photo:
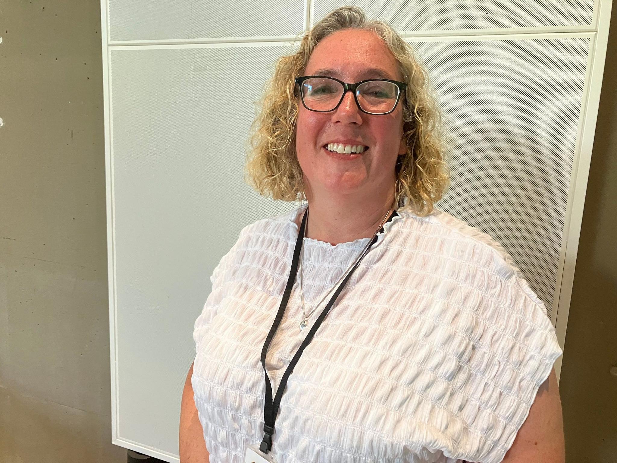
[[[394,217],[394,215],[397,215],[396,211],[392,211],[392,214],[390,215],[389,219],[386,222],[389,222],[392,219],[392,217]],[[291,270],[289,270],[289,278],[287,280],[287,286],[285,287],[285,292],[283,293],[283,299],[281,299],[281,306],[279,307],[278,313],[276,314],[276,318],[274,319],[274,323],[272,324],[272,327],[270,328],[270,333],[268,333],[265,343],[263,343],[262,366],[263,366],[263,372],[265,373],[265,378],[266,378],[266,397],[265,397],[265,402],[263,404],[263,433],[264,434],[263,434],[263,441],[260,444],[259,449],[264,454],[268,454],[268,452],[272,448],[272,435],[274,433],[274,423],[276,420],[276,415],[278,414],[278,407],[281,404],[281,397],[283,396],[283,391],[285,389],[285,386],[287,385],[287,380],[289,378],[289,375],[291,375],[291,373],[294,371],[294,367],[296,366],[306,346],[308,346],[310,344],[310,341],[313,340],[313,336],[317,332],[317,329],[320,327],[321,322],[323,322],[323,320],[326,318],[326,315],[328,315],[330,307],[332,307],[332,304],[334,304],[334,301],[338,297],[339,293],[341,293],[343,286],[345,286],[345,284],[347,283],[347,280],[349,280],[349,277],[351,277],[351,274],[354,272],[358,264],[360,264],[360,261],[362,261],[364,256],[366,256],[366,253],[370,251],[371,246],[373,246],[373,243],[377,241],[377,235],[373,236],[373,240],[371,240],[371,244],[368,245],[368,247],[366,248],[366,251],[362,254],[362,256],[360,256],[360,259],[358,259],[358,262],[356,262],[354,267],[352,267],[349,273],[347,273],[347,276],[342,281],[342,283],[339,285],[339,287],[336,288],[336,292],[333,294],[328,304],[326,304],[325,309],[323,309],[323,312],[321,312],[318,319],[315,321],[315,324],[313,324],[313,327],[310,329],[307,337],[304,338],[304,341],[302,341],[302,344],[300,344],[300,347],[296,351],[296,354],[294,355],[294,357],[291,359],[291,362],[289,362],[289,365],[287,369],[285,370],[285,373],[283,373],[283,377],[281,377],[281,383],[278,385],[278,390],[276,390],[276,395],[275,395],[274,402],[273,402],[272,401],[272,385],[270,384],[270,378],[268,378],[268,372],[266,371],[266,353],[268,352],[268,347],[270,346],[270,342],[272,341],[272,338],[274,337],[276,333],[276,328],[278,328],[278,325],[281,324],[281,320],[283,319],[283,314],[285,313],[285,309],[289,301],[289,295],[291,294],[291,288],[292,286],[294,286],[294,282],[296,281],[296,273],[298,269],[298,259],[300,257],[300,249],[302,248],[302,242],[304,240],[304,230],[306,228],[306,222],[307,222],[308,216],[309,216],[309,207],[307,207],[304,217],[302,217],[302,225],[300,225],[300,230],[298,232],[298,238],[296,240],[296,248],[294,248],[294,257],[291,261]]]

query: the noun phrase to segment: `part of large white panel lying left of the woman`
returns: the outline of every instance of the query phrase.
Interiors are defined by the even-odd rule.
[[[116,412],[120,438],[159,457],[178,454],[182,378],[208,276],[244,225],[295,207],[264,201],[242,180],[252,101],[289,52],[111,52]]]

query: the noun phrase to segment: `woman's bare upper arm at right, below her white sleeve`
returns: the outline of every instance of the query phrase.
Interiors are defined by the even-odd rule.
[[[502,463],[564,463],[565,458],[561,399],[553,369]]]

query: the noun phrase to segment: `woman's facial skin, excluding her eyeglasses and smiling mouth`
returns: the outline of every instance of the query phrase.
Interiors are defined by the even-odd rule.
[[[349,83],[369,78],[404,81],[378,35],[351,29],[337,31],[318,43],[304,75],[327,75]],[[407,148],[402,141],[402,101],[386,115],[360,111],[351,91],[331,112],[309,111],[299,96],[297,102],[296,152],[309,199],[315,194],[366,196],[393,187],[397,156]],[[338,159],[327,150],[328,143],[338,140],[358,141],[368,150],[355,159]]]

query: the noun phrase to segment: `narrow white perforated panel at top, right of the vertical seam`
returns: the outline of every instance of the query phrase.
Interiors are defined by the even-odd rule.
[[[402,33],[411,31],[497,30],[520,28],[593,27],[593,0],[581,1],[434,1],[380,2],[317,0],[312,23],[342,4],[362,7],[366,16],[383,19]]]

